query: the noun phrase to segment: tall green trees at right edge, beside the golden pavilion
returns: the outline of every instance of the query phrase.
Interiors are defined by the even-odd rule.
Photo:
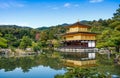
[[[99,22],[99,21],[98,21]],[[101,29],[101,34],[97,37],[97,47],[116,47],[116,52],[120,48],[120,6],[114,13],[112,19],[106,21],[106,26]],[[102,24],[103,25],[103,24]],[[97,27],[96,27],[97,28]]]

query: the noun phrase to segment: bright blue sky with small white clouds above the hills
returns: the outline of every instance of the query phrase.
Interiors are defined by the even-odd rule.
[[[108,19],[120,0],[0,0],[0,25],[38,28]]]

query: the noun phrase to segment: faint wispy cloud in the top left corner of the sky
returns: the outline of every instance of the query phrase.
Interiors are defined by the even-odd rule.
[[[0,2],[0,8],[24,7],[24,4],[16,2]]]

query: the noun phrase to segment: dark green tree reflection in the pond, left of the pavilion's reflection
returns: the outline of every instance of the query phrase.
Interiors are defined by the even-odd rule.
[[[63,63],[59,58],[52,58],[43,54],[29,57],[0,58],[0,69],[4,69],[5,71],[21,68],[23,72],[28,72],[32,67],[39,65],[49,66],[55,70],[59,70],[63,67]]]

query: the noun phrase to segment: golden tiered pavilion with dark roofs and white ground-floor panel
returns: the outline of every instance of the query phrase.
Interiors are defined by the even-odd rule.
[[[76,22],[67,26],[68,31],[63,35],[64,47],[68,48],[94,48],[96,46],[96,33],[90,32],[90,26]]]

